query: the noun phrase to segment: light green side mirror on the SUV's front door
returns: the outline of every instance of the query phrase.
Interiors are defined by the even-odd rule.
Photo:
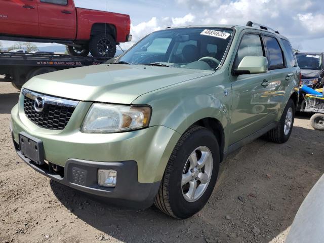
[[[236,75],[266,73],[268,71],[268,60],[265,57],[246,56],[234,70]]]

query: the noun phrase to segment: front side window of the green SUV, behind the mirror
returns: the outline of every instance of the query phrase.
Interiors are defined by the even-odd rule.
[[[239,63],[246,56],[264,56],[260,35],[245,34],[242,37],[235,56],[233,69],[237,69]]]

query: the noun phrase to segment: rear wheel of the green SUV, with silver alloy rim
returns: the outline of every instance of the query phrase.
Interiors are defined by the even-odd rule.
[[[294,119],[295,119],[295,103],[292,99],[289,99],[287,102],[287,105],[284,109],[284,112],[282,112],[281,118],[279,120],[279,123],[276,128],[270,130],[267,134],[266,137],[268,140],[274,143],[285,143],[288,141],[292,130],[294,126]],[[286,117],[288,114],[288,111],[291,112],[291,117]],[[289,131],[285,128],[287,128],[288,120],[290,120],[290,128]],[[286,123],[287,121],[287,123]],[[286,125],[286,127],[285,127]],[[287,132],[288,131],[288,132]]]

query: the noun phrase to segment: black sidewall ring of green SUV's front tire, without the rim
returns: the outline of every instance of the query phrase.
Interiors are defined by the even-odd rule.
[[[189,203],[182,194],[181,179],[184,166],[190,153],[199,146],[206,146],[213,156],[213,172],[208,187],[201,197]],[[215,187],[219,171],[219,147],[215,136],[207,129],[195,131],[181,146],[176,158],[173,173],[170,174],[169,200],[170,206],[178,218],[188,218],[200,211],[210,198]]]

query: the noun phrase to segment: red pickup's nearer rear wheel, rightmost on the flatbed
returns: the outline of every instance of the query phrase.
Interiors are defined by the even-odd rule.
[[[89,49],[97,59],[112,58],[116,54],[116,42],[110,34],[99,33],[90,39]]]

